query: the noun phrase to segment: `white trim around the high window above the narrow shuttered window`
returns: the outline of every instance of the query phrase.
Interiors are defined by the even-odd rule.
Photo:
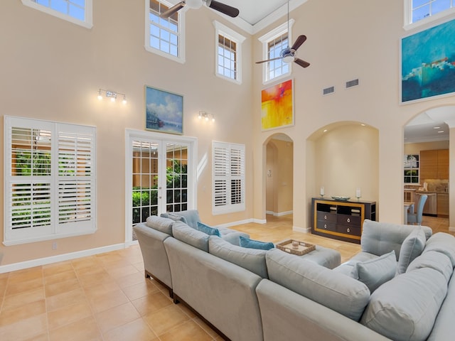
[[[232,29],[228,28],[228,26],[223,25],[219,21],[214,20],[213,26],[215,26],[215,75],[223,80],[229,80],[230,82],[234,82],[236,84],[242,84],[242,43],[245,41],[245,37],[242,36],[240,33],[233,31]],[[221,75],[218,72],[218,36],[221,35],[225,38],[232,40],[236,43],[236,50],[235,53],[237,54],[237,70],[236,70],[236,79],[232,79],[230,77],[226,77],[225,75]]]

